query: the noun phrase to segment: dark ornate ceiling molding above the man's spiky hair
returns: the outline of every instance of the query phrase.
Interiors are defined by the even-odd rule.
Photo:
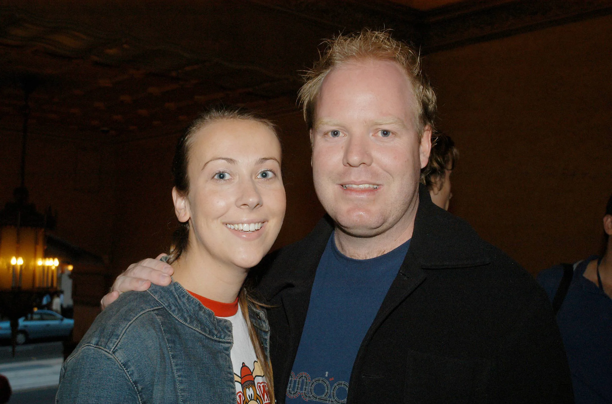
[[[385,1],[249,1],[340,32],[393,29],[423,53],[612,13],[611,0],[472,0],[428,11]]]

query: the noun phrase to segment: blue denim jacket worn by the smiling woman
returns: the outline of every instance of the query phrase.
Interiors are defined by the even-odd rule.
[[[268,352],[263,310],[249,318]],[[236,404],[232,326],[177,282],[123,293],[64,362],[56,403]]]

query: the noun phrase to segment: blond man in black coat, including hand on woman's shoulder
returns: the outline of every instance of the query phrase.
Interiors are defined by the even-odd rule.
[[[419,187],[436,103],[418,54],[365,30],[306,79],[328,216],[261,264],[278,403],[571,402],[542,289]],[[168,273],[144,260],[102,303]]]

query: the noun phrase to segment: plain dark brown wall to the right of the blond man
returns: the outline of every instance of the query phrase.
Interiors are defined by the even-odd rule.
[[[599,251],[612,193],[612,17],[427,57],[453,213],[532,273]]]

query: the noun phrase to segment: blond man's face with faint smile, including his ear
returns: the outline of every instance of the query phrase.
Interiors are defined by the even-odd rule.
[[[416,99],[400,65],[345,62],[324,79],[311,131],[316,194],[341,230],[374,237],[412,225],[431,128],[419,141]]]

